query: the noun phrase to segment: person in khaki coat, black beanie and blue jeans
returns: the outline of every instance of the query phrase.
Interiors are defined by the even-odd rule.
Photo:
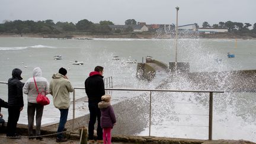
[[[70,106],[69,92],[73,92],[71,82],[68,80],[65,68],[60,68],[59,73],[54,73],[50,82],[49,92],[53,96],[53,104],[60,110],[60,121],[57,133],[63,132],[66,120],[68,118],[68,110]],[[66,142],[63,133],[57,134],[56,142]]]

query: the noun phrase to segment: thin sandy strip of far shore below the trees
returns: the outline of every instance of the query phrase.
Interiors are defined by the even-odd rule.
[[[191,36],[191,35],[190,35]],[[198,34],[190,36],[181,36],[182,39],[242,39],[256,40],[255,37],[238,36],[235,34]],[[24,38],[56,38],[56,39],[175,39],[171,35],[154,36],[149,33],[128,33],[128,34],[3,34],[0,37],[24,37]]]

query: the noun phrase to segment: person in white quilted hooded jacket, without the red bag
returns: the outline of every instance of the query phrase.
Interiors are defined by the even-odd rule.
[[[35,78],[37,88],[39,92],[46,92],[49,93],[49,82],[46,78],[42,77],[42,71],[39,67],[34,68],[33,70],[33,77]],[[28,100],[28,107],[27,107],[27,114],[28,114],[28,136],[33,136],[33,123],[34,123],[34,114],[36,111],[36,136],[40,136],[40,129],[41,129],[41,117],[43,116],[43,105],[37,104],[37,89],[34,83],[34,78],[29,78],[23,87],[24,94],[27,94]],[[30,137],[31,139],[31,137]],[[43,140],[43,137],[36,137],[36,139]]]

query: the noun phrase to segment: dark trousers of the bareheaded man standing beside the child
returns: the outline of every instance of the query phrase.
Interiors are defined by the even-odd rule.
[[[97,121],[98,121],[97,140],[102,140],[103,129],[101,128],[101,125],[100,125],[101,111],[100,111],[100,108],[98,108],[98,103],[89,102],[88,107],[89,107],[89,113],[90,113],[89,126],[88,126],[88,139],[89,140],[94,139],[94,124],[97,118]]]

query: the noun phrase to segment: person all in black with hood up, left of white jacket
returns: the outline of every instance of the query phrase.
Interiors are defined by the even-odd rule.
[[[22,71],[20,69],[12,70],[12,78],[8,80],[8,123],[7,136],[17,137],[15,133],[20,111],[23,110],[23,86],[24,83],[20,80]]]

